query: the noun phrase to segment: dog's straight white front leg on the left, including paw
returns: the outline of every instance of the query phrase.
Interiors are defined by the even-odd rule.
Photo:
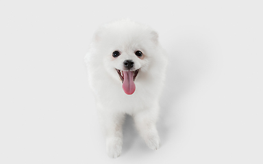
[[[101,123],[106,137],[106,150],[108,156],[116,158],[121,155],[123,146],[124,113],[101,111]]]

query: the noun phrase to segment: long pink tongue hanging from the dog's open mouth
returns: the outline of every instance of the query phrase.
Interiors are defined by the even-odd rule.
[[[123,71],[123,90],[125,94],[133,94],[135,91],[134,84],[134,72],[133,71]]]

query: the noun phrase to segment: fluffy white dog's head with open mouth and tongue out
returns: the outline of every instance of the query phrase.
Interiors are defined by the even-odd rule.
[[[151,59],[156,55],[158,34],[147,27],[107,27],[95,35],[103,67],[117,83],[123,83],[123,91],[133,94],[136,79],[149,71]]]

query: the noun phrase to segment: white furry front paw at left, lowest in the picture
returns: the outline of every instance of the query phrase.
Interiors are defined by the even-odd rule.
[[[108,156],[115,159],[121,155],[123,139],[119,137],[110,137],[107,139],[106,146]]]

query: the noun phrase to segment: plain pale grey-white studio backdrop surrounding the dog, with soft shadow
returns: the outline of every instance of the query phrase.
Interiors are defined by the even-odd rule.
[[[0,163],[263,163],[260,2],[1,1]],[[127,117],[110,159],[84,56],[120,18],[158,31],[169,66],[161,148]]]

